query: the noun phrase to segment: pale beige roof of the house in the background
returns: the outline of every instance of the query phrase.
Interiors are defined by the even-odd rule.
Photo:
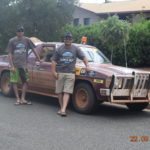
[[[110,3],[81,3],[81,8],[97,14],[125,13],[125,12],[147,12],[150,11],[150,0],[128,0]]]

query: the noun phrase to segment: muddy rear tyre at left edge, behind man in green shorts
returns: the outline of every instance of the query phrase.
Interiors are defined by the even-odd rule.
[[[8,97],[14,96],[13,87],[12,87],[12,84],[10,83],[9,72],[2,73],[0,86],[1,86],[1,92],[3,95],[8,96]]]

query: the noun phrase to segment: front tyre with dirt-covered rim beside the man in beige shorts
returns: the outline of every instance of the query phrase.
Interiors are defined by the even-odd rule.
[[[96,110],[97,100],[89,84],[79,83],[75,86],[72,105],[77,112],[82,114],[90,114]]]

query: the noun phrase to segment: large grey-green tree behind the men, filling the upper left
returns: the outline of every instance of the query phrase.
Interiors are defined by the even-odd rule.
[[[60,39],[61,28],[70,23],[76,0],[1,0],[0,44],[6,48],[8,39],[15,35],[16,26],[22,24],[27,36],[44,41]]]

